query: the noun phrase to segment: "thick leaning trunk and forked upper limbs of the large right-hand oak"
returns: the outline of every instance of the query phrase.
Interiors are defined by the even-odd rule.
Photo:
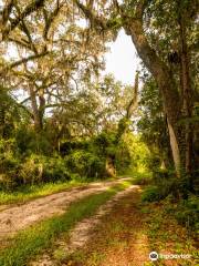
[[[101,28],[102,30],[112,29],[112,20],[100,19],[90,8],[80,3],[78,0],[75,0],[77,7],[84,12],[86,18],[94,22],[96,29]],[[128,35],[132,37],[133,43],[136,47],[137,53],[151,72],[155,78],[158,88],[163,95],[164,111],[167,116],[170,146],[172,151],[172,157],[175,163],[175,168],[177,176],[180,176],[180,168],[185,166],[182,151],[182,143],[185,143],[185,136],[180,133],[178,122],[182,117],[182,99],[179,94],[178,86],[174,79],[174,75],[167,64],[160,60],[156,51],[150,47],[145,30],[143,27],[143,17],[145,8],[148,3],[147,0],[140,0],[137,3],[137,7],[134,6],[134,16],[128,16],[128,12],[125,11],[124,6],[119,4],[117,0],[114,0],[115,8],[121,14],[121,27],[123,27]],[[116,24],[118,27],[118,24]],[[188,91],[186,91],[187,93]],[[188,99],[188,95],[186,96]],[[189,101],[190,102],[190,101]],[[187,135],[186,143],[190,143],[190,134]],[[187,149],[187,168],[190,168],[190,146]]]

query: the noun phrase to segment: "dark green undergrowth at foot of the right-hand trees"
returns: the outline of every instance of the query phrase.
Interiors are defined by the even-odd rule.
[[[197,195],[187,190],[186,198],[176,198],[174,193],[176,187],[180,187],[180,184],[177,183],[172,173],[156,172],[149,185],[145,187],[142,201],[146,203],[160,202],[165,206],[165,212],[175,217],[179,224],[186,226],[189,231],[198,232],[199,201]]]

